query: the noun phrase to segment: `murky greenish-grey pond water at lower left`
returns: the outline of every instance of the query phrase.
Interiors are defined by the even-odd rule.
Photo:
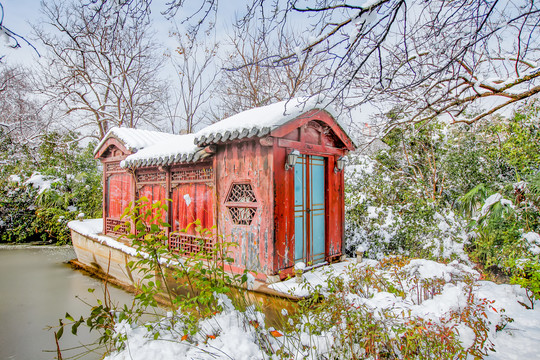
[[[58,325],[66,312],[87,316],[97,298],[103,298],[100,280],[74,271],[66,262],[74,259],[71,247],[0,247],[0,360],[56,359],[56,344],[48,326]],[[96,289],[89,293],[88,289]],[[133,295],[109,287],[114,302],[131,303]],[[86,351],[95,341],[84,326],[75,337],[66,329],[60,340],[64,359]],[[71,349],[71,350],[69,350]],[[102,351],[82,359],[100,359]]]

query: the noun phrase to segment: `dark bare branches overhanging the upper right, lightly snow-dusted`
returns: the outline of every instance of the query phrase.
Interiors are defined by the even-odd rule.
[[[187,2],[167,4],[165,14],[175,16]],[[217,19],[218,0],[198,4],[182,20],[191,34]],[[257,21],[265,41],[286,42],[283,29],[295,24],[301,44],[236,69],[322,56],[327,71],[312,92],[334,106],[370,104],[381,115],[398,108],[403,122],[444,116],[472,123],[540,93],[535,0],[252,0],[242,7],[239,26]]]

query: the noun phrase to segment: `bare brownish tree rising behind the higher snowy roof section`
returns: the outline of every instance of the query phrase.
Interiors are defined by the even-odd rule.
[[[287,31],[274,41],[253,24],[235,29],[228,37],[228,51],[222,59],[216,87],[224,116],[297,96],[308,96],[318,87],[324,73],[321,56],[306,54],[302,61],[279,66],[263,64],[269,53],[288,53],[299,48],[294,33]]]

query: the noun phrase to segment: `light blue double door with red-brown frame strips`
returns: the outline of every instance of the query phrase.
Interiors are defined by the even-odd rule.
[[[325,160],[301,155],[294,167],[295,262],[306,265],[325,259]]]

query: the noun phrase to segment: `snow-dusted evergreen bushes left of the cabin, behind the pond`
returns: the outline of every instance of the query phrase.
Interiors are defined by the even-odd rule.
[[[48,133],[35,146],[0,135],[0,242],[69,243],[69,220],[101,216],[95,144],[79,147],[75,133]]]

